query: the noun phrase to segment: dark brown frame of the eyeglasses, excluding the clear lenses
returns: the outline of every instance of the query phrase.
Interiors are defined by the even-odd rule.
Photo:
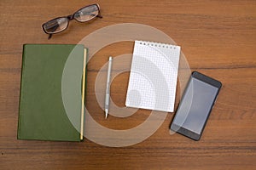
[[[101,15],[100,5],[99,5],[98,3],[90,4],[90,5],[84,6],[83,8],[87,8],[87,7],[90,7],[90,6],[93,6],[93,5],[96,5],[96,7],[98,8],[99,13],[98,13],[95,17],[91,18],[90,20],[93,20],[93,19],[95,19],[96,17],[102,19],[103,17],[102,17],[102,15]],[[81,9],[82,9],[82,8],[79,8],[79,10],[81,10]],[[74,14],[76,14],[77,12],[79,12],[79,10],[77,10],[77,11],[74,12],[73,14],[69,14],[69,15],[67,15],[67,16],[60,16],[60,17],[57,17],[57,18],[52,19],[52,20],[57,20],[57,19],[60,19],[60,18],[67,18],[67,27],[68,27],[70,20],[77,20],[76,18],[74,18]],[[45,25],[46,23],[52,21],[52,20],[48,20],[47,22],[44,22],[44,24],[42,25],[42,28],[43,28],[44,33],[45,33],[45,34],[49,34],[48,39],[51,38],[53,34],[57,34],[57,33],[60,33],[61,31],[67,30],[67,27],[66,27],[65,29],[63,29],[63,30],[61,30],[61,31],[57,31],[57,32],[54,32],[54,33],[48,33],[47,31],[44,30],[44,25]],[[77,20],[77,21],[83,23],[83,22],[88,22],[88,21],[90,21],[90,20],[85,20],[85,21]]]

